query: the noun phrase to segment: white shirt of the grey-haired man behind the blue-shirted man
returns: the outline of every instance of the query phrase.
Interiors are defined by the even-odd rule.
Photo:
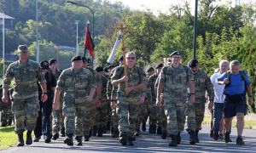
[[[222,74],[220,72],[214,73],[211,77],[213,89],[214,89],[214,103],[224,103],[224,88],[225,85],[219,85],[217,82],[215,82],[216,78],[221,76]]]

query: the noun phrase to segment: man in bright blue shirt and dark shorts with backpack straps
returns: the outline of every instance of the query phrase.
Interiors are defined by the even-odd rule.
[[[228,143],[230,141],[230,126],[234,116],[237,118],[237,139],[236,144],[245,144],[241,139],[241,134],[244,127],[244,116],[247,114],[247,99],[245,97],[246,91],[249,96],[248,104],[253,105],[253,95],[251,81],[245,73],[245,81],[243,80],[241,73],[241,64],[238,60],[230,62],[230,80],[227,78],[227,73],[223,73],[216,79],[218,84],[225,84],[224,89],[224,116],[225,116],[225,128],[224,141]],[[234,99],[235,97],[235,99]],[[236,99],[241,99],[237,101]]]

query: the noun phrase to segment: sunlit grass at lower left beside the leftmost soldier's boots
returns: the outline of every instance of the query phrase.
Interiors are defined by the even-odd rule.
[[[23,133],[23,138],[26,141],[26,132]],[[0,127],[0,150],[9,149],[16,144],[18,144],[18,135],[15,133],[15,126]]]

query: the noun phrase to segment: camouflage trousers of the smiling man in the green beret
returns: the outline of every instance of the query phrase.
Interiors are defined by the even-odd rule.
[[[186,120],[186,99],[164,99],[168,135],[183,132]]]

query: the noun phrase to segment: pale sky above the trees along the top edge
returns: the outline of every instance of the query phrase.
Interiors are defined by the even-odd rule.
[[[131,9],[140,9],[146,10],[146,8],[150,8],[153,10],[154,14],[157,15],[157,10],[160,10],[161,13],[165,14],[170,8],[171,5],[176,5],[178,3],[183,4],[181,0],[109,0],[111,3],[114,2],[122,2],[125,5],[129,6]],[[191,14],[195,14],[195,0],[184,0],[189,2],[189,6],[192,9]],[[217,0],[218,1],[218,0]],[[236,0],[231,0],[232,4],[236,3]],[[237,0],[239,1],[239,0]],[[247,3],[251,0],[240,0],[240,3]],[[218,3],[226,3],[226,0],[221,0]],[[143,7],[144,6],[144,7]]]

